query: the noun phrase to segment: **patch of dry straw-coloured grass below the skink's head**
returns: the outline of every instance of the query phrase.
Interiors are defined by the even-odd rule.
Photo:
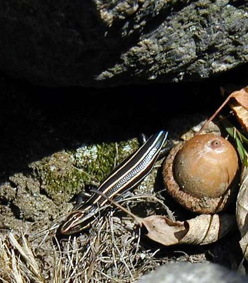
[[[133,209],[141,207],[144,199],[149,196],[124,201],[128,200],[127,207]],[[148,201],[153,204],[152,209],[156,199],[151,196]],[[167,210],[163,203],[158,203]],[[122,213],[112,209],[104,217],[97,217],[88,232],[67,240],[59,241],[51,227],[45,229],[47,224],[38,225],[41,230],[32,225],[25,235],[20,231],[7,232],[0,238],[0,282],[132,283],[168,262],[167,257],[155,256],[159,249],[144,249],[136,217],[134,222],[128,210],[128,215],[120,218],[115,216],[116,210]]]

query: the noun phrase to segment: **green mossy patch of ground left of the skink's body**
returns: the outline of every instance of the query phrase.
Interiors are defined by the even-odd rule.
[[[136,140],[87,145],[32,163],[41,189],[55,202],[68,201],[85,184],[99,185],[113,168],[138,148]]]

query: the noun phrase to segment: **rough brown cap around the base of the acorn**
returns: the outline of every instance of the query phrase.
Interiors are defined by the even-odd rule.
[[[212,197],[212,192],[210,192],[210,196],[207,195],[207,193],[202,193],[202,191],[196,192],[196,195],[186,192],[182,186],[179,185],[175,176],[176,156],[186,143],[187,141],[176,145],[163,164],[163,179],[168,193],[182,206],[193,212],[213,214],[222,211],[227,207],[231,199],[233,199],[233,196],[236,195],[236,191],[233,189],[236,185],[236,178],[234,178],[234,181],[230,184],[228,189],[224,189],[224,191],[221,192],[223,194],[220,193],[217,197]]]

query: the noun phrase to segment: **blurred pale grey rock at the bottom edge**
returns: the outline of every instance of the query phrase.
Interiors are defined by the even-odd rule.
[[[137,283],[246,283],[241,276],[217,264],[179,263],[160,267]]]

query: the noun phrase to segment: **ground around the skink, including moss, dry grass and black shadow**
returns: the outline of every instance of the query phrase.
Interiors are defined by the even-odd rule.
[[[138,146],[140,133],[169,131],[177,142],[223,98],[232,73],[208,82],[114,89],[47,89],[0,80],[0,279],[2,282],[134,282],[157,266],[214,262],[236,270],[234,231],[207,246],[163,247],[128,215],[109,207],[92,227],[57,229],[86,184],[99,185]],[[242,87],[242,78],[234,88]],[[191,216],[164,191],[161,162],[122,202],[139,216]],[[169,210],[167,210],[169,207]],[[170,212],[169,212],[170,213]]]

